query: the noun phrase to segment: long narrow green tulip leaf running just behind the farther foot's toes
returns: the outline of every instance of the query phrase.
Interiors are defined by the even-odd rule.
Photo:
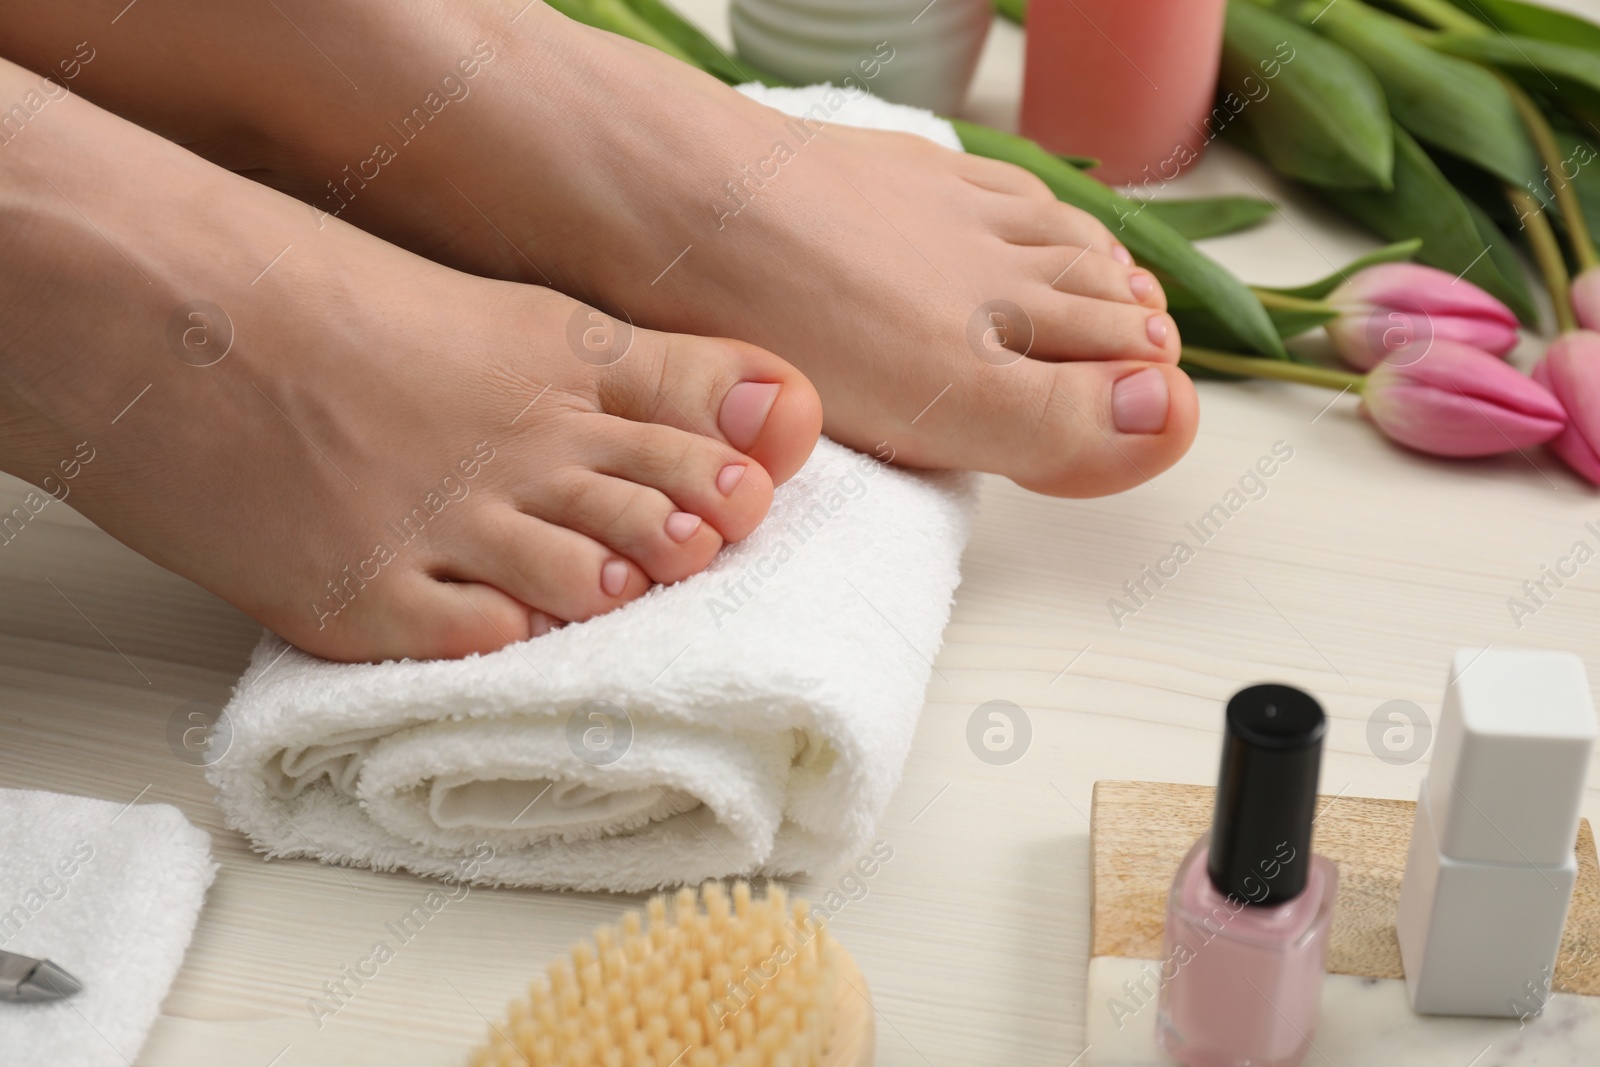
[[[1110,227],[1139,262],[1163,280],[1194,293],[1232,331],[1229,347],[1243,344],[1261,355],[1285,358],[1283,342],[1256,294],[1182,234],[1149,211],[1141,211],[1138,202],[1062,163],[1027,138],[960,118],[952,118],[950,123],[968,152],[1032,171],[1050,186],[1056,198],[1088,211]]]

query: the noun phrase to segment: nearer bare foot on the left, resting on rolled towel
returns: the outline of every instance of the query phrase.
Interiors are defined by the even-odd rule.
[[[322,656],[686,577],[821,424],[750,344],[440,267],[66,93],[0,146],[0,467]]]

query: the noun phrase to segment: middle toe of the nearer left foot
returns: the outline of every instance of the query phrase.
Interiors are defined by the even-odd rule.
[[[661,584],[706,569],[722,547],[715,526],[667,494],[594,470],[571,470],[546,483],[525,510],[606,545]]]

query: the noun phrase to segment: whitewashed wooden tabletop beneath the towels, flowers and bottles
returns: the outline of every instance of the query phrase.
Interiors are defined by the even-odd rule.
[[[722,26],[725,0],[686,5]],[[1590,11],[1597,5],[1587,5]],[[973,99],[1014,114],[1019,34],[998,24]],[[1208,248],[1250,280],[1328,272],[1371,242],[1214,152],[1178,195],[1251,187],[1282,218]],[[1531,355],[1526,346],[1523,355]],[[1202,430],[1171,472],[1106,501],[1051,501],[997,478],[965,560],[904,782],[882,824],[894,857],[835,920],[877,995],[878,1062],[1069,1064],[1083,1049],[1088,808],[1101,777],[1208,782],[1221,701],[1286,680],[1333,715],[1323,789],[1414,797],[1426,760],[1373,755],[1390,699],[1437,715],[1458,646],[1539,645],[1600,677],[1600,563],[1514,625],[1507,598],[1600,520],[1550,456],[1435,462],[1386,445],[1346,397],[1202,386]],[[1118,629],[1107,598],[1275,442],[1293,459]],[[6,482],[0,499],[21,494]],[[258,629],[197,587],[50,506],[0,547],[0,785],[166,801],[211,832],[222,870],[139,1067],[456,1064],[555,952],[626,901],[474,891],[318,1030],[306,1000],[365,957],[427,886],[310,862],[262,862],[221,825],[166,725],[226,699]],[[979,761],[966,721],[1026,709],[1032,742]],[[1600,776],[1595,779],[1600,782]],[[1600,792],[1586,814],[1600,819]],[[816,878],[811,893],[837,881]],[[1339,1065],[1344,1067],[1344,1065]]]

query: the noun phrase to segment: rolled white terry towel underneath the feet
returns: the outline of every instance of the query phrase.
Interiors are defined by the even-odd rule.
[[[589,622],[386,664],[267,633],[208,776],[272,856],[616,891],[826,870],[899,781],[973,504],[824,440],[755,534]]]

